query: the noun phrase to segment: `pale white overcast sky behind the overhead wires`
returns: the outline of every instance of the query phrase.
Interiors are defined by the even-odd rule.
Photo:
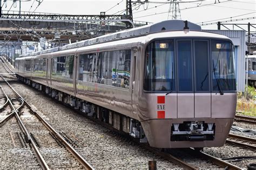
[[[72,15],[99,15],[100,12],[106,11],[106,15],[122,14],[122,10],[125,9],[126,0],[43,0],[43,2],[38,6],[39,0],[21,0],[28,1],[22,2],[22,11],[30,12],[45,12],[45,13],[62,13],[62,14],[72,14]],[[42,0],[40,0],[42,1]],[[137,0],[133,0],[137,1]],[[140,0],[145,1],[145,0]],[[178,1],[178,0],[177,0]],[[180,0],[179,0],[180,1]],[[183,0],[179,3],[181,19],[188,20],[193,23],[200,24],[202,22],[208,22],[214,20],[230,20],[256,17],[256,0],[216,0],[217,3],[214,4],[215,0],[203,0],[199,2],[188,1],[196,0]],[[220,3],[219,3],[219,2]],[[149,4],[133,5],[133,20],[144,21],[144,22],[160,22],[162,20],[167,20],[169,15],[168,11],[170,8],[170,3],[160,4],[159,2],[167,2],[167,0],[149,0]],[[155,3],[153,3],[155,2]],[[156,3],[158,2],[158,3]],[[170,2],[170,1],[169,1]],[[2,10],[18,10],[19,3],[17,7],[12,5],[12,1],[8,0],[7,5],[3,4]],[[11,8],[12,5],[12,8]],[[156,7],[157,6],[157,7]],[[123,12],[124,13],[124,12]],[[161,14],[158,14],[161,13]],[[241,20],[239,22],[231,23],[248,23],[256,24],[256,19],[251,20]],[[210,22],[211,23],[211,22]],[[217,29],[217,25],[203,26],[203,29]],[[224,29],[224,28],[223,28]],[[256,31],[255,29],[253,31]]]

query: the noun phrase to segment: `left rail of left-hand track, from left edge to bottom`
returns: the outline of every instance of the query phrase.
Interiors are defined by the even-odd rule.
[[[2,79],[5,81],[4,77],[3,77],[3,76],[1,76],[1,77],[2,77]],[[6,81],[5,81],[5,82],[6,82]],[[9,84],[9,83],[8,83],[8,84]],[[1,87],[2,87],[2,86],[1,86]],[[18,115],[17,110],[15,109],[14,105],[13,105],[12,102],[10,101],[10,98],[8,97],[8,95],[6,95],[6,93],[5,93],[5,91],[3,90],[3,88],[2,88],[2,91],[3,91],[4,95],[5,95],[5,97],[7,98],[8,102],[10,103],[11,108],[14,110],[14,111],[13,111],[13,114],[11,114],[11,115],[15,115],[18,124],[21,125],[23,131],[26,133],[26,136],[28,137],[28,140],[29,140],[30,143],[31,143],[32,150],[35,152],[36,157],[37,157],[39,163],[41,164],[42,168],[43,168],[43,169],[50,169],[50,168],[48,167],[48,165],[46,164],[44,158],[42,157],[42,154],[41,154],[40,151],[38,150],[38,148],[37,148],[35,142],[32,140],[32,138],[31,138],[31,136],[30,136],[30,133],[29,133],[28,130],[26,129],[26,127],[25,127],[24,123],[22,122],[21,118],[19,118],[19,115]]]

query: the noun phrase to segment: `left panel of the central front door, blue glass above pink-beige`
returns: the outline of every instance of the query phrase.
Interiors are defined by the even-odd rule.
[[[177,40],[178,118],[194,117],[192,40]]]

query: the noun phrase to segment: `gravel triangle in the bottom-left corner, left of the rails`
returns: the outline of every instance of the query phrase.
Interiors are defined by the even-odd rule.
[[[0,140],[1,162],[4,162],[1,169],[42,169],[15,117],[1,126],[0,134],[4,139]]]

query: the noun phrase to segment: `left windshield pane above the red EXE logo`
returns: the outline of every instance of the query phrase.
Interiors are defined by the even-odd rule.
[[[144,90],[175,90],[173,40],[154,41],[146,49]]]

